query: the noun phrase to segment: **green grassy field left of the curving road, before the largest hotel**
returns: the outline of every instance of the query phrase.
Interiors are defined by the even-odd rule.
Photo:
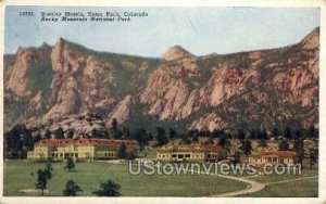
[[[211,175],[201,176],[133,176],[125,164],[77,163],[76,171],[65,171],[64,163],[53,163],[53,178],[49,180],[50,195],[62,195],[68,179],[73,179],[82,189],[79,195],[92,195],[101,182],[111,179],[121,184],[123,196],[210,196],[247,187],[243,182]],[[24,195],[20,190],[34,189],[36,171],[43,168],[43,163],[24,161],[4,162],[4,196]]]

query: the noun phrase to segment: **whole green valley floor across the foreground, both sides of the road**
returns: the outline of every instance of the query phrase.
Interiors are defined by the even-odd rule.
[[[74,180],[82,189],[78,195],[92,196],[101,182],[111,179],[121,184],[122,196],[306,196],[318,195],[318,170],[304,169],[302,175],[255,175],[220,177],[216,175],[130,175],[127,164],[114,163],[77,163],[75,171],[63,169],[65,163],[52,163],[53,178],[49,180],[48,190],[51,196],[62,196],[64,184]],[[26,196],[22,190],[35,189],[36,171],[45,168],[45,163],[27,161],[4,162],[4,196]],[[239,178],[237,180],[237,178]],[[241,180],[241,178],[247,179]],[[253,181],[264,189],[248,193]],[[238,193],[237,193],[238,192]]]

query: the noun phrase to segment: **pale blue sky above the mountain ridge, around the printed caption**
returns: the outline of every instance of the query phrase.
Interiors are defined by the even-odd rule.
[[[34,16],[20,16],[33,11]],[[41,12],[147,12],[129,22],[41,22]],[[196,55],[299,42],[319,26],[318,8],[7,7],[4,52],[54,44],[60,37],[97,51],[160,58],[179,44]]]

